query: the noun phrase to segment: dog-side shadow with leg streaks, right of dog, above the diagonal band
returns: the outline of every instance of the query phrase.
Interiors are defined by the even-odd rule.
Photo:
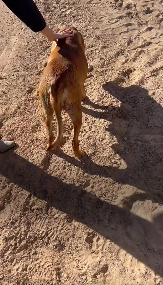
[[[102,106],[86,98],[84,102],[96,110],[82,106],[82,111],[112,122],[106,131],[117,137],[119,143],[111,147],[127,168],[98,165],[86,154],[80,160],[61,151],[56,155],[90,175],[110,177],[143,190],[145,193],[135,192],[126,197],[124,203],[129,209],[136,200],[150,199],[163,204],[163,108],[147,90],[136,85],[124,88],[108,82],[103,89],[121,101],[121,106]]]

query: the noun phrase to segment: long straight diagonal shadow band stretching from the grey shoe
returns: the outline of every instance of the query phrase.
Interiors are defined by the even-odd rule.
[[[3,163],[2,163],[3,162]],[[48,161],[46,161],[48,163]],[[149,222],[126,208],[111,205],[74,184],[66,184],[20,157],[1,154],[0,174],[38,199],[116,243],[163,277],[163,216]],[[5,207],[1,205],[1,210]],[[155,251],[153,250],[155,249]]]

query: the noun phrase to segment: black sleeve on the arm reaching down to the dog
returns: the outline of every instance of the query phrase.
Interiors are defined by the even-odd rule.
[[[33,0],[2,1],[33,32],[40,32],[45,28],[45,20]]]

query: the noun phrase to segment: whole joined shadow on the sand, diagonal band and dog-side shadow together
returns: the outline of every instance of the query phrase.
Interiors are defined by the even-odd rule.
[[[135,193],[129,198],[131,205],[128,208],[111,205],[81,187],[63,183],[21,158],[13,150],[1,154],[0,174],[10,183],[68,214],[71,219],[112,240],[163,277],[163,215],[158,215],[153,222],[149,222],[130,212],[132,203],[138,198],[158,200],[159,203],[163,201],[163,110],[146,90],[135,85],[123,88],[110,82],[104,89],[123,105],[123,111],[115,110],[108,130],[118,138],[121,147],[112,147],[127,163],[127,168],[121,170],[99,166],[87,156],[77,160],[61,152],[56,154],[90,175],[110,177],[143,190],[144,194]],[[105,108],[99,105],[94,107]],[[93,116],[94,111],[91,110],[91,113]],[[116,117],[116,114],[121,115]],[[96,111],[95,116],[100,118],[103,114]],[[110,115],[108,116],[110,121]],[[126,140],[122,126],[127,126]]]

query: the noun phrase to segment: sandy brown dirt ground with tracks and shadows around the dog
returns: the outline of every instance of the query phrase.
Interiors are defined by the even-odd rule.
[[[162,3],[37,0],[85,40],[77,159],[65,113],[61,148],[45,151],[51,44],[0,2],[0,133],[17,144],[0,155],[0,284],[163,284]]]

